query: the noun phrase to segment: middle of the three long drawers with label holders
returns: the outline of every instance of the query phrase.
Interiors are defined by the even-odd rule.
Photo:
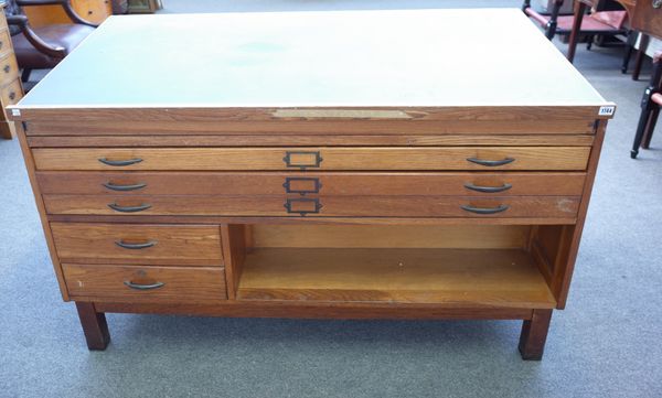
[[[42,171],[36,179],[42,193],[68,195],[580,196],[586,173]]]

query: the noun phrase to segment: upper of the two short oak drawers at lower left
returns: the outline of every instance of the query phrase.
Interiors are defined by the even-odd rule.
[[[221,266],[217,226],[51,223],[62,262]]]

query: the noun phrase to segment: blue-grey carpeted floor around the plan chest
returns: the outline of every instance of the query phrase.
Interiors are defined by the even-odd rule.
[[[519,6],[164,2],[164,12]],[[508,43],[485,37],[485,45]],[[645,83],[620,74],[620,49],[581,49],[577,55],[576,66],[619,108],[609,125],[568,306],[555,312],[543,362],[520,359],[520,323],[511,321],[109,315],[113,343],[90,353],[74,306],[61,301],[13,140],[0,141],[0,396],[662,397],[662,132],[639,160],[629,159]]]

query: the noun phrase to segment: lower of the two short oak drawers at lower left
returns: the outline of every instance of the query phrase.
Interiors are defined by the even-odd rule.
[[[74,300],[211,303],[227,299],[223,268],[63,263]]]

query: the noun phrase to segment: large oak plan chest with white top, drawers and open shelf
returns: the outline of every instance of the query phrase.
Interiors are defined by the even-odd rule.
[[[512,319],[540,358],[613,110],[519,10],[424,10],[111,17],[10,112],[93,349],[105,312]]]

